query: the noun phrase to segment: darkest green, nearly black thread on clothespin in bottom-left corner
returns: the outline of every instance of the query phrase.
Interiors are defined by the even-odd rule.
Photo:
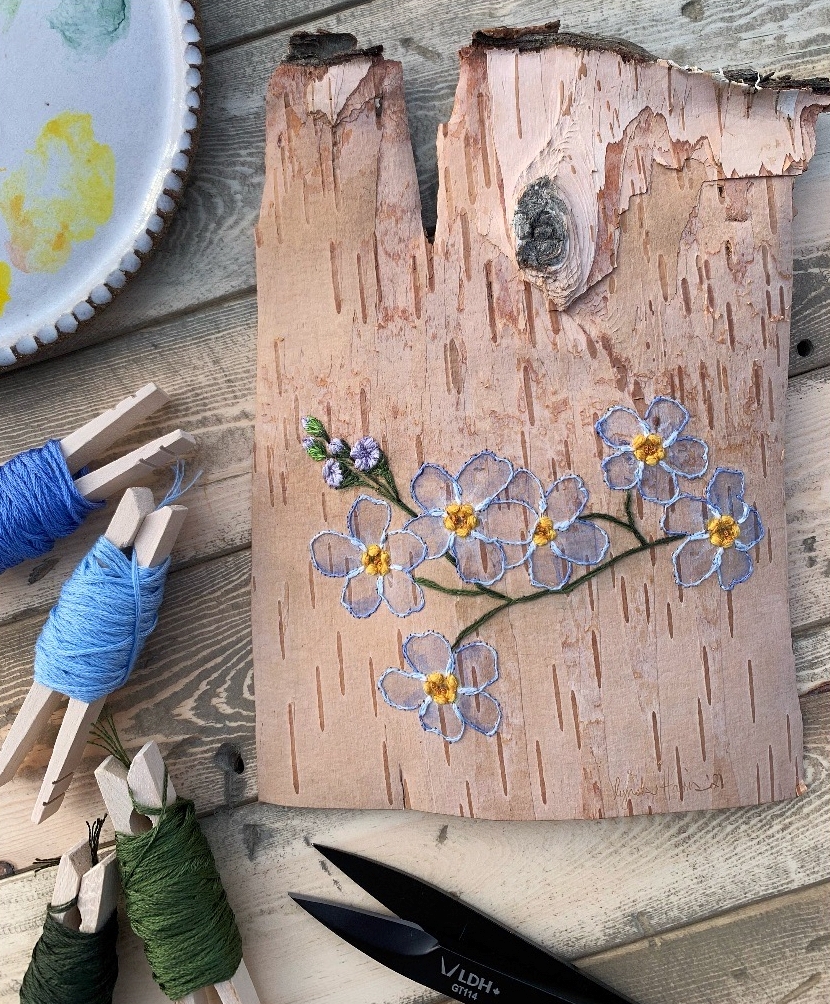
[[[20,1004],[112,1004],[117,938],[114,911],[95,934],[72,931],[47,913],[20,987]]]

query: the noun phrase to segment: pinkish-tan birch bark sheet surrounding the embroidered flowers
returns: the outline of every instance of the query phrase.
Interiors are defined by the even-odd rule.
[[[268,94],[254,475],[260,796],[401,808],[390,778],[402,775],[411,808],[496,818],[792,797],[797,771],[775,772],[802,756],[779,346],[792,179],[830,103],[822,82],[730,82],[558,25],[479,33],[439,135],[428,244],[400,66],[356,45],[295,39]],[[324,416],[351,442],[375,437],[401,488],[424,460],[456,471],[491,449],[540,475],[578,473],[597,508],[622,516],[593,424],[613,405],[642,413],[657,395],[685,405],[715,464],[745,471],[768,531],[752,578],[730,593],[708,581],[678,595],[663,548],[624,576],[512,607],[483,629],[500,656],[496,740],[469,733],[451,753],[378,701],[374,681],[401,665],[401,634],[454,638],[480,611],[431,591],[403,623],[385,610],[358,621],[339,603],[341,583],[316,573],[309,583],[309,540],[341,527],[356,493],[317,481],[300,415]],[[284,505],[271,504],[269,478]],[[658,534],[657,507],[637,508]],[[290,605],[286,583],[298,586]],[[504,580],[523,587],[523,569]]]

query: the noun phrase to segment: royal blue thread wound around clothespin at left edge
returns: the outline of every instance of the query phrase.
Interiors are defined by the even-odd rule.
[[[103,502],[75,487],[57,440],[0,467],[0,573],[52,549]]]

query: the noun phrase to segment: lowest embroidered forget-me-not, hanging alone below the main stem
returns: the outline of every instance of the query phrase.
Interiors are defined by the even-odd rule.
[[[502,723],[499,702],[487,688],[499,679],[496,650],[471,642],[453,652],[438,632],[409,635],[403,643],[408,671],[392,667],[377,681],[386,704],[398,711],[418,711],[421,726],[449,743],[457,743],[469,725],[494,736]]]

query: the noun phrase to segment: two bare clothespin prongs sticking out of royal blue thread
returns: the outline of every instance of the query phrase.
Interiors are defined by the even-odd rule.
[[[60,441],[60,450],[70,473],[75,474],[99,457],[146,418],[170,401],[155,384],[148,384],[130,398],[87,422]],[[83,475],[75,482],[80,494],[90,502],[100,502],[121,489],[144,481],[149,473],[175,464],[196,450],[196,440],[177,430],[147,443],[111,464]]]

